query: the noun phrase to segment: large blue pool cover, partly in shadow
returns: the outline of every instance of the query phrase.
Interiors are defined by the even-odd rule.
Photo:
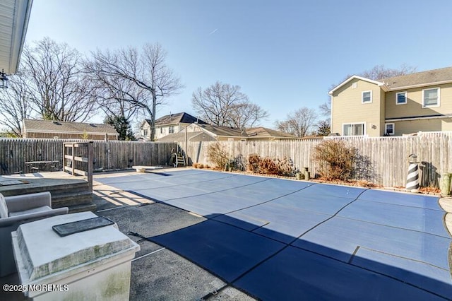
[[[206,170],[97,179],[205,216],[148,239],[261,300],[451,300],[438,198]]]

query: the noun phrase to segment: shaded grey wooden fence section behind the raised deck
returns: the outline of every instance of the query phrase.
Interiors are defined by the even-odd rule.
[[[1,175],[31,172],[25,162],[58,161],[63,168],[63,143],[76,139],[0,138]],[[132,165],[166,165],[176,143],[93,141],[93,169],[123,170]],[[42,170],[47,171],[47,170]]]

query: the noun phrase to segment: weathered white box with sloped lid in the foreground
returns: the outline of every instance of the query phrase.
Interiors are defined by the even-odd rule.
[[[60,237],[52,226],[95,218],[91,212],[20,225],[13,250],[32,300],[129,300],[131,260],[140,247],[117,225]],[[32,290],[33,289],[33,290]]]

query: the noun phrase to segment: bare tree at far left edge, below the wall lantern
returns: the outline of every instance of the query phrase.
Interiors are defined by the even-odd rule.
[[[30,118],[32,107],[28,83],[22,74],[10,76],[8,89],[0,89],[0,124],[14,136],[23,134],[23,119]]]

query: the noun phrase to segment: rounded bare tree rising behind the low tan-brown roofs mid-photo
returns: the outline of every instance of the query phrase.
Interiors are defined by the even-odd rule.
[[[191,103],[199,118],[218,126],[251,127],[268,117],[265,110],[240,92],[238,85],[219,81],[204,90],[198,88]]]

